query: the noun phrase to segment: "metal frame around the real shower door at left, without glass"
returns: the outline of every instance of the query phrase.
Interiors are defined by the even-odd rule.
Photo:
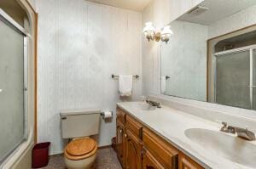
[[[28,88],[28,78],[27,78],[27,39],[30,36],[28,33],[26,33],[26,30],[20,26],[15,20],[13,20],[9,14],[5,13],[2,8],[0,8],[0,20],[3,22],[3,24],[6,24],[10,27],[10,29],[13,29],[14,31],[20,33],[20,35],[23,36],[23,138],[20,139],[20,142],[15,145],[12,149],[9,150],[9,152],[3,156],[3,159],[0,159],[0,168],[3,165],[3,162],[9,158],[9,155],[13,154],[15,151],[17,151],[20,146],[26,139],[28,138],[28,127],[27,127],[27,116],[28,116],[28,110],[27,110],[27,104],[28,104],[28,95],[27,95],[27,88]]]

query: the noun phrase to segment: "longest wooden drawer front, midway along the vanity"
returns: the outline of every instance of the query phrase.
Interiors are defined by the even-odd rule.
[[[143,145],[165,168],[177,168],[178,150],[148,128],[143,128]]]

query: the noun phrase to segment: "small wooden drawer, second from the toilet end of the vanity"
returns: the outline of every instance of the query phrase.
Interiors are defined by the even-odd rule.
[[[126,127],[133,132],[137,138],[142,139],[143,137],[143,125],[132,118],[130,115],[126,115]]]

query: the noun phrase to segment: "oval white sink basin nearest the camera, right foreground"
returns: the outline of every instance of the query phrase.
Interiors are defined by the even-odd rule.
[[[185,131],[185,135],[212,154],[244,166],[256,168],[256,145],[254,144],[222,132],[202,128],[190,128]]]

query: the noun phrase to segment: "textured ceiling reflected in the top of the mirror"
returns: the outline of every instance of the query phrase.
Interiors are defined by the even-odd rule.
[[[211,25],[254,4],[256,4],[256,0],[206,0],[199,6],[209,8],[207,11],[201,14],[189,14],[188,12],[183,14],[178,20]]]

